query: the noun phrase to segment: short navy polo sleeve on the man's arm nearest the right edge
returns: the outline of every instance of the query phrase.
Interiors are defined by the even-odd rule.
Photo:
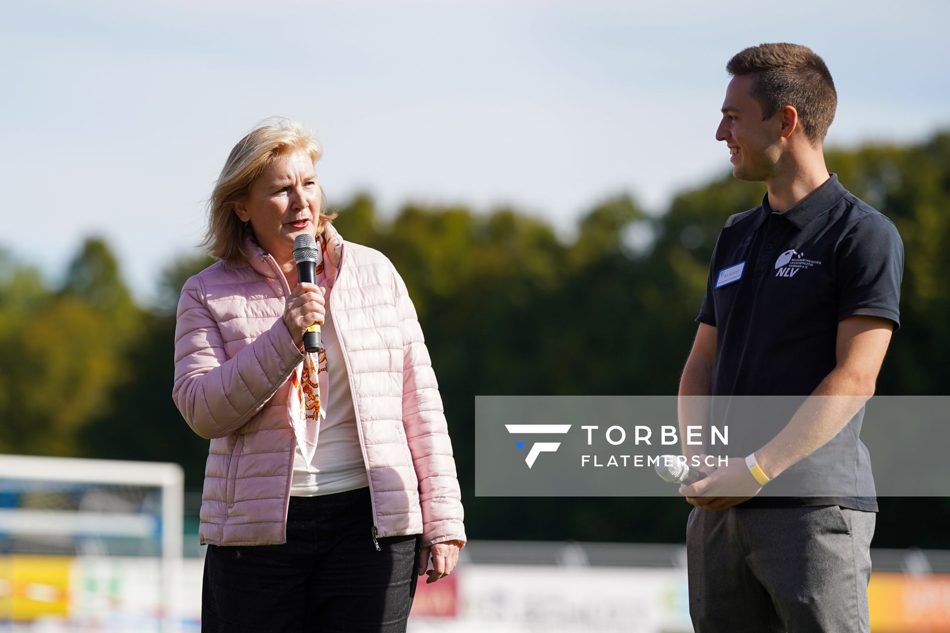
[[[856,314],[879,316],[901,326],[903,242],[886,216],[864,217],[838,245],[838,321]]]

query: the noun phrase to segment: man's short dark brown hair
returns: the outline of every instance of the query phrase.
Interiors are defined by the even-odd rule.
[[[825,140],[838,93],[825,61],[811,48],[797,44],[748,47],[732,57],[726,70],[733,76],[755,76],[752,97],[762,105],[763,119],[791,105],[811,144]]]

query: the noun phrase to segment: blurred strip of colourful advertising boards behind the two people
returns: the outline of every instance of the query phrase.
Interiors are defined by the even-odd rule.
[[[201,567],[185,560],[183,577],[200,579]],[[159,568],[147,557],[0,556],[0,623],[159,630]],[[410,631],[692,631],[682,569],[467,564],[444,580],[419,580]],[[199,630],[199,589],[180,586],[183,631]],[[874,631],[950,633],[950,574],[874,572],[868,598]]]

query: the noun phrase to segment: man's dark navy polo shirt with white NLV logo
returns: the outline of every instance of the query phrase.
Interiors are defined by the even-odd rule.
[[[835,368],[840,321],[865,314],[892,321],[895,330],[900,326],[902,271],[903,245],[894,223],[849,194],[835,175],[785,213],[771,211],[767,194],[761,206],[732,215],[712,252],[696,319],[716,328],[712,396],[804,400]],[[744,505],[877,510],[867,450],[858,439],[863,414],[769,484],[837,451],[853,457],[853,468],[835,476],[854,477],[858,496],[753,497]],[[746,456],[768,440],[731,445],[730,454]]]

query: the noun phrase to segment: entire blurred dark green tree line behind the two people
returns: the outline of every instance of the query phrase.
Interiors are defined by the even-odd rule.
[[[904,241],[902,329],[878,393],[946,393],[950,133],[826,158]],[[473,399],[674,394],[716,236],[764,192],[724,175],[676,195],[658,217],[613,197],[566,243],[513,209],[408,205],[384,219],[370,195],[336,209],[340,233],[387,254],[409,287],[446,404],[470,538],[683,541],[691,507],[679,499],[476,497]],[[177,259],[146,308],[131,300],[102,240],[85,242],[60,289],[0,251],[0,452],[177,461],[199,489],[208,445],[171,400],[173,338],[184,280],[212,261]],[[950,524],[950,499],[880,505],[876,547],[948,547],[929,526]],[[911,512],[932,520],[905,521]]]

